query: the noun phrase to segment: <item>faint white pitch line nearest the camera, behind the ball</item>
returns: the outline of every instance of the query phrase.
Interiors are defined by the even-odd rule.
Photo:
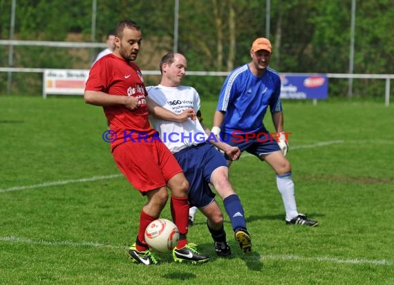
[[[28,244],[37,244],[41,246],[71,246],[74,248],[81,246],[91,246],[93,248],[113,248],[113,249],[126,249],[126,246],[113,246],[111,244],[97,243],[93,241],[44,241],[26,239],[21,237],[0,237],[0,241],[8,241],[13,243],[28,243]],[[250,257],[253,258],[253,257]],[[393,261],[389,261],[386,259],[376,260],[376,259],[338,259],[336,257],[303,257],[300,255],[260,255],[256,257],[260,260],[296,260],[296,261],[318,261],[318,262],[330,262],[333,264],[373,264],[373,265],[382,265],[382,266],[393,266]]]

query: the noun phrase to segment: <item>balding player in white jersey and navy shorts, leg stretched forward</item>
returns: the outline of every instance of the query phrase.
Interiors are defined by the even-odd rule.
[[[187,61],[180,53],[168,53],[160,62],[162,79],[158,86],[149,86],[148,107],[153,127],[178,160],[189,181],[189,203],[207,217],[207,227],[214,239],[216,254],[227,256],[231,250],[226,241],[223,213],[209,187],[214,185],[232,222],[234,237],[243,252],[250,252],[252,243],[246,229],[245,214],[241,201],[228,178],[227,162],[216,147],[225,151],[229,159],[236,160],[241,152],[238,147],[218,142],[200,120],[173,122],[161,108],[179,114],[193,109],[200,117],[200,97],[193,87],[182,86]],[[152,116],[153,115],[153,116]],[[209,135],[212,135],[209,139]],[[211,144],[212,143],[212,144]]]

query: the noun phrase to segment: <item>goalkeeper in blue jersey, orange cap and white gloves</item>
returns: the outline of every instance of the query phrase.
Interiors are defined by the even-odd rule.
[[[219,96],[212,132],[229,145],[265,160],[276,172],[276,185],[285,206],[285,223],[317,226],[297,211],[283,111],[279,95],[281,80],[270,65],[272,46],[268,39],[256,39],[250,50],[252,61],[232,71]],[[270,134],[263,118],[270,107],[276,134]],[[288,133],[287,133],[288,134]],[[230,164],[231,161],[227,159]]]

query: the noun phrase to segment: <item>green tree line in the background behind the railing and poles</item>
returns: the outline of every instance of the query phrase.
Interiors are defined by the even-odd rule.
[[[10,36],[10,0],[0,0],[1,39]],[[351,0],[270,0],[270,35],[265,35],[265,0],[180,0],[178,51],[189,70],[230,71],[250,60],[256,37],[269,37],[271,67],[279,73],[348,73]],[[389,0],[357,1],[353,73],[392,74],[394,6]],[[118,21],[133,19],[142,27],[138,64],[158,69],[160,57],[173,50],[174,0],[97,0],[95,42]],[[91,0],[18,0],[15,39],[90,42]],[[89,68],[100,50],[15,46],[14,66]],[[1,66],[8,66],[8,46],[0,48]],[[13,75],[15,93],[41,93],[41,75]],[[224,78],[187,77],[200,93],[217,95]],[[148,77],[151,84],[158,78]],[[150,82],[149,82],[150,83]],[[0,73],[0,87],[6,73]],[[381,95],[382,80],[357,80],[354,93]],[[332,80],[330,95],[345,95],[347,80]]]

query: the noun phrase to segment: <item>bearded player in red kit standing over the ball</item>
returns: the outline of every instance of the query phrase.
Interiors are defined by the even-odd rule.
[[[133,61],[142,42],[140,26],[135,21],[120,21],[116,30],[115,50],[97,61],[89,73],[84,93],[88,104],[102,106],[109,120],[111,151],[116,164],[129,182],[147,196],[140,213],[140,228],[129,257],[138,264],[158,264],[144,239],[144,231],[165,207],[167,187],[171,190],[171,216],[180,232],[176,248],[185,261],[203,263],[209,259],[187,243],[189,204],[187,182],[171,151],[158,138],[148,120],[148,95],[142,73]],[[172,112],[169,112],[172,113]],[[173,113],[172,113],[173,114]],[[174,120],[195,120],[192,109],[175,115]],[[179,261],[179,260],[177,260]]]

